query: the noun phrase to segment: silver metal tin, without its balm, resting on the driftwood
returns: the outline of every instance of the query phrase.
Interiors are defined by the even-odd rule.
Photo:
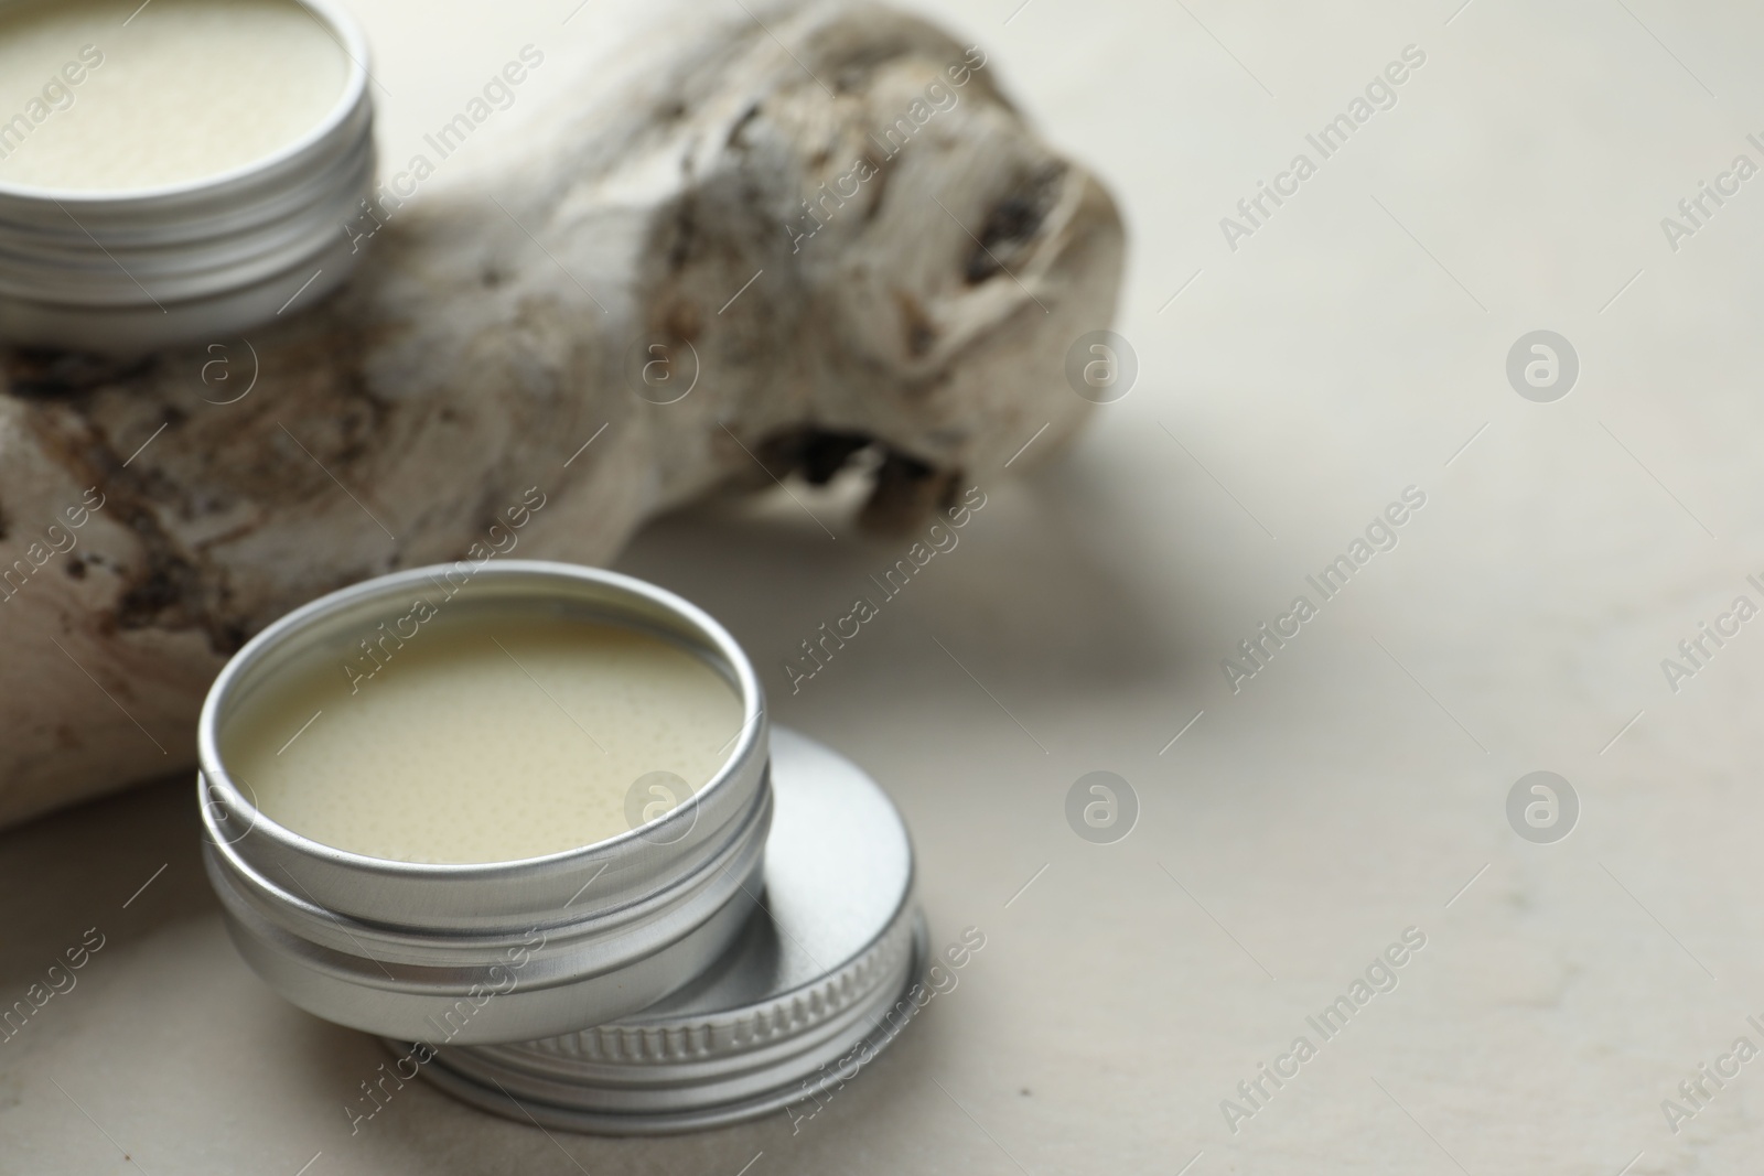
[[[0,340],[109,354],[222,342],[349,275],[346,226],[374,189],[369,48],[332,0],[296,2],[349,56],[342,97],[300,139],[169,187],[0,183]]]

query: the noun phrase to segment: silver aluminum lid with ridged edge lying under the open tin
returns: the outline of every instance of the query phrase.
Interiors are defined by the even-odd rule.
[[[706,975],[633,1017],[563,1037],[386,1044],[427,1058],[422,1072],[466,1102],[564,1130],[649,1135],[818,1105],[912,1017],[926,931],[912,845],[887,795],[796,732],[773,728],[771,749],[764,904]]]

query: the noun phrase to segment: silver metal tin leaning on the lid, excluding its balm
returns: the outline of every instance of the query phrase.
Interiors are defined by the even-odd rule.
[[[475,568],[446,596],[437,585]],[[337,665],[413,596],[429,624],[506,615],[610,622],[697,654],[734,688],[743,726],[686,804],[607,841],[515,862],[430,866],[325,846],[258,811],[222,733],[250,695]],[[767,725],[736,640],[688,601],[630,577],[540,561],[402,571],[332,592],[252,638],[220,672],[198,730],[205,864],[247,963],[319,1017],[407,1038],[506,1042],[598,1024],[704,971],[755,908],[771,827]]]

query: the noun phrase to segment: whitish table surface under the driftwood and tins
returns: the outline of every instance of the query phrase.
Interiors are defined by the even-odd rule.
[[[1678,693],[1660,661],[1764,601],[1764,178],[1676,252],[1660,219],[1764,164],[1764,9],[1018,4],[940,19],[1120,197],[1131,395],[988,485],[796,696],[778,663],[900,545],[759,504],[619,562],[887,786],[935,942],[986,934],[960,987],[797,1134],[549,1137],[413,1084],[351,1137],[377,1046],[240,963],[176,779],[0,837],[0,1003],[106,936],[0,1044],[0,1172],[1757,1169],[1764,1060],[1676,1134],[1662,1100],[1764,1047],[1764,621]],[[706,11],[353,7],[393,157],[526,42],[593,69],[612,30]],[[1219,219],[1408,44],[1397,106],[1228,249]],[[1503,370],[1538,328],[1581,358],[1554,404]],[[1409,485],[1401,545],[1233,695],[1221,658]],[[1115,845],[1064,818],[1099,769],[1143,809]],[[1505,816],[1536,769],[1582,806],[1554,845]],[[1319,1044],[1305,1017],[1404,927],[1401,986]],[[1231,1132],[1221,1100],[1302,1033],[1318,1056]]]

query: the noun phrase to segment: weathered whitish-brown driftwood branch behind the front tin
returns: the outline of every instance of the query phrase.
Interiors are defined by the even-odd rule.
[[[995,74],[887,9],[774,11],[388,208],[321,307],[138,363],[0,356],[0,822],[192,763],[228,654],[342,584],[605,561],[861,451],[900,525],[1043,425],[1051,451],[1122,227]]]

